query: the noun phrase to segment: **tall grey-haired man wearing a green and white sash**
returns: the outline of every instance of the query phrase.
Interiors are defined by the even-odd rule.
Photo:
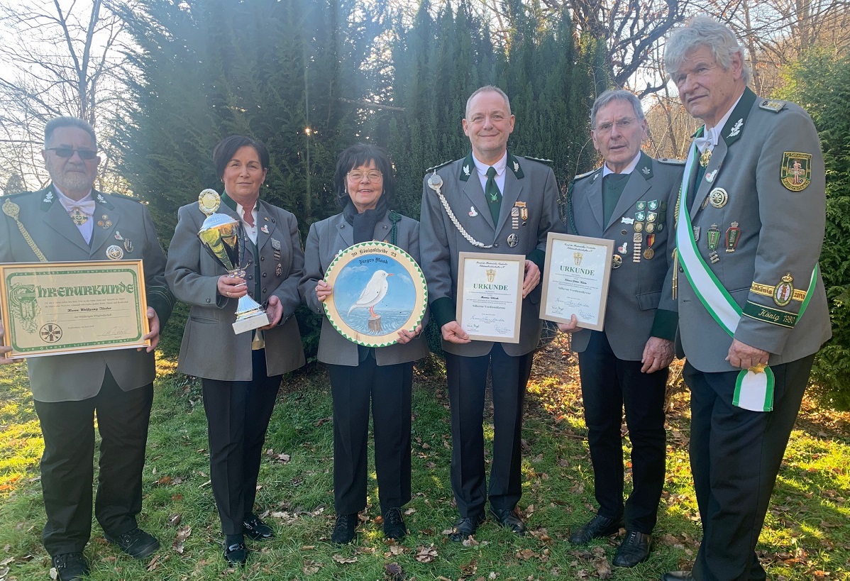
[[[692,572],[662,579],[764,579],[758,535],[830,338],[818,269],[824,159],[804,110],[747,88],[744,51],[725,25],[698,17],[674,31],[665,66],[705,121],[685,166],[672,273],[703,540]]]

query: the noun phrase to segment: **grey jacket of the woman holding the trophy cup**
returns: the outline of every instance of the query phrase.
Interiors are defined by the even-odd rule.
[[[218,212],[239,219],[239,215],[224,204],[219,206]],[[292,316],[301,304],[297,285],[304,255],[292,212],[258,200],[257,214],[261,295],[254,299],[264,303],[269,296],[275,295],[283,306],[280,323],[263,331],[266,368],[271,377],[304,364],[301,334]],[[254,334],[246,331],[235,335],[233,332],[231,324],[235,320],[237,300],[221,296],[217,290],[218,277],[227,271],[210,257],[198,240],[198,230],[205,218],[197,203],[181,207],[168,248],[168,285],[174,296],[192,306],[180,346],[178,369],[206,379],[250,381]],[[268,229],[268,233],[263,232],[263,228]],[[276,251],[275,246],[280,250]],[[246,251],[246,256],[250,257],[251,251]],[[248,267],[246,282],[251,290],[254,288],[253,273],[253,266]]]

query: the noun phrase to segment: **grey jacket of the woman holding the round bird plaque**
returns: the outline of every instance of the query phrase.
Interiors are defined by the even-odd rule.
[[[375,224],[373,240],[390,240],[390,231],[393,224],[388,218],[389,212]],[[343,214],[337,214],[314,223],[310,226],[307,235],[307,244],[304,250],[304,275],[299,285],[303,302],[314,313],[325,313],[325,308],[316,297],[316,284],[325,278],[327,268],[337,257],[340,251],[354,244],[354,228],[346,221]],[[416,260],[420,265],[419,258],[419,223],[412,218],[402,216],[396,224],[396,242],[402,250]],[[416,361],[428,354],[428,346],[420,335],[405,345],[389,345],[388,347],[377,347],[375,349],[375,361],[378,365],[392,365]],[[319,355],[321,362],[337,365],[357,365],[357,344],[348,341],[333,328],[327,317],[323,317],[321,324],[321,336],[319,338]]]

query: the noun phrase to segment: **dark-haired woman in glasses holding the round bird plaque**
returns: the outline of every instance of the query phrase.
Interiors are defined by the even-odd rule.
[[[419,260],[419,223],[390,211],[395,191],[387,152],[368,144],[352,145],[337,160],[333,178],[343,212],[310,226],[301,296],[314,313],[333,289],[323,280],[340,251],[371,240],[387,241]],[[328,364],[333,396],[333,493],[337,522],[334,543],[350,543],[358,513],[366,506],[366,447],[369,403],[375,432],[378,498],[387,539],[407,533],[401,507],[411,499],[411,385],[413,362],[428,348],[414,332],[399,330],[399,342],[363,347],[322,321],[319,360]]]

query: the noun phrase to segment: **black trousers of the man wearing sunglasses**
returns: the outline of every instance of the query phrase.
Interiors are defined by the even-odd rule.
[[[81,552],[92,533],[94,414],[100,455],[94,515],[110,535],[137,527],[153,384],[123,392],[106,369],[94,398],[39,402],[42,493],[48,520],[42,542],[50,556]]]

